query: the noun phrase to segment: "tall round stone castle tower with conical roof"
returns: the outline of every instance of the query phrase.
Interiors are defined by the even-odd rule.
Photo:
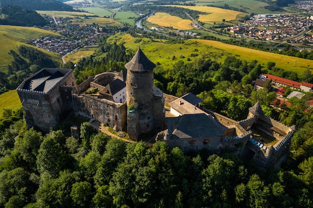
[[[153,68],[152,63],[140,50],[125,64],[127,132],[137,140],[141,134],[154,130]]]

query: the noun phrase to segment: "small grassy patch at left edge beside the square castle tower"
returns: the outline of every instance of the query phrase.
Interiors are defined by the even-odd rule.
[[[21,103],[16,90],[10,90],[0,95],[0,118],[3,117],[3,108],[16,111],[21,108]]]

